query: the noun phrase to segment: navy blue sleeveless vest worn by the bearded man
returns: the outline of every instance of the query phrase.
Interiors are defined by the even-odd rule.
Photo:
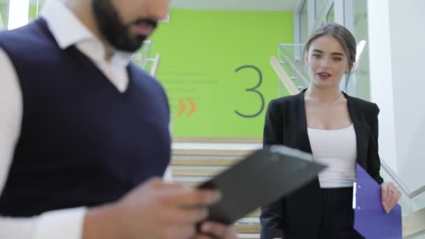
[[[24,109],[0,215],[101,205],[163,175],[169,108],[157,80],[130,64],[120,93],[74,46],[60,49],[43,19],[1,32],[0,48],[15,66]]]

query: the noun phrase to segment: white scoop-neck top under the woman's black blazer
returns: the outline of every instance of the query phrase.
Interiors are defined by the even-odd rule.
[[[357,154],[354,126],[307,131],[314,160],[328,166],[319,173],[320,187],[352,187],[356,180]]]

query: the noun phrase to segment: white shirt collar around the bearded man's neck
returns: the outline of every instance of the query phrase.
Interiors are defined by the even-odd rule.
[[[87,41],[92,42],[92,49],[96,52],[96,58],[104,59],[105,49],[99,38],[94,36],[85,24],[59,0],[48,0],[43,6],[41,16],[48,23],[48,27],[55,37],[60,48],[66,49],[71,45],[77,45]],[[127,66],[133,54],[129,52],[116,51],[112,61],[122,66]]]

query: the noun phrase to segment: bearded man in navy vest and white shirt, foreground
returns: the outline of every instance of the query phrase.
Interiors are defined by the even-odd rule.
[[[168,101],[130,64],[168,0],[52,0],[0,33],[0,238],[236,238],[159,179]]]

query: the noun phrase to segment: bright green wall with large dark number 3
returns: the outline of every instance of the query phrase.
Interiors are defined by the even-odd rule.
[[[278,96],[270,57],[277,55],[278,43],[293,42],[292,13],[170,15],[171,22],[160,24],[151,39],[153,52],[161,54],[157,78],[171,104],[174,136],[261,137],[267,104]],[[252,67],[236,72],[240,66],[261,71],[257,92],[247,89],[259,84],[259,73]]]

